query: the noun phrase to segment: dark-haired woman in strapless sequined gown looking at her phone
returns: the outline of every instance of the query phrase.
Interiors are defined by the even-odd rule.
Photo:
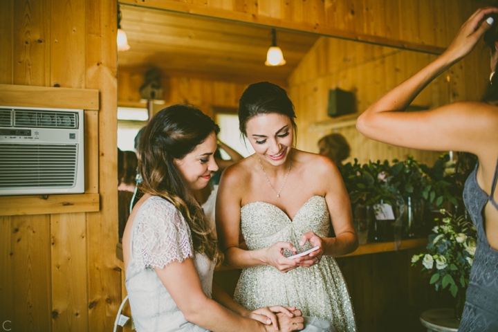
[[[216,230],[223,264],[243,269],[234,294],[239,304],[296,306],[333,331],[356,331],[333,258],[358,247],[349,196],[329,158],[293,147],[294,118],[286,91],[275,84],[251,84],[241,96],[240,130],[255,154],[221,176]],[[318,250],[288,258],[313,247]]]

